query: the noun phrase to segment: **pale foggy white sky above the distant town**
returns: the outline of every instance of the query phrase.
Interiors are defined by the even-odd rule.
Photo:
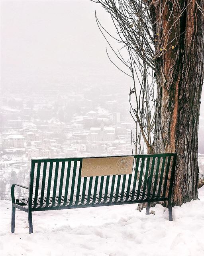
[[[124,88],[128,100],[131,78],[108,60],[95,10],[104,27],[114,32],[110,16],[91,1],[2,1],[1,92],[72,82],[83,86],[88,80],[94,86],[112,82],[112,89]],[[202,146],[204,93],[200,114]]]

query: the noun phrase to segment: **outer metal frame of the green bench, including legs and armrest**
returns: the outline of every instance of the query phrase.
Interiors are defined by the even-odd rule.
[[[125,200],[125,201],[117,201],[117,202],[106,202],[105,201],[105,202],[99,202],[99,203],[94,203],[94,204],[90,204],[90,198],[89,198],[89,203],[88,204],[74,204],[74,205],[65,205],[65,206],[57,205],[57,206],[55,206],[55,203],[54,203],[53,206],[48,206],[48,207],[46,207],[46,206],[44,207],[43,206],[43,207],[37,207],[37,208],[34,207],[33,208],[32,207],[33,206],[33,200],[34,200],[34,204],[37,204],[37,199],[35,200],[35,198],[33,198],[33,180],[34,180],[34,172],[35,172],[35,163],[43,163],[44,164],[44,163],[47,163],[47,162],[57,162],[57,161],[66,161],[66,160],[67,161],[75,161],[75,162],[76,161],[81,161],[80,162],[80,170],[81,170],[82,159],[84,159],[84,158],[34,159],[34,160],[31,160],[31,173],[30,173],[29,187],[18,185],[18,184],[12,184],[12,186],[11,186],[11,198],[12,198],[11,232],[14,233],[14,230],[15,230],[16,208],[18,208],[20,210],[23,210],[24,212],[27,212],[27,214],[28,214],[28,224],[29,224],[29,234],[33,233],[32,212],[35,212],[35,211],[45,211],[45,210],[59,210],[59,209],[68,209],[68,208],[70,208],[70,209],[71,208],[85,208],[85,207],[110,206],[110,205],[121,205],[121,204],[135,204],[135,203],[140,203],[140,202],[143,202],[143,203],[146,202],[147,203],[146,214],[149,214],[149,208],[150,208],[150,203],[151,202],[168,201],[169,220],[172,221],[173,220],[173,216],[172,216],[171,196],[172,196],[172,189],[173,189],[173,180],[174,180],[174,176],[175,176],[175,166],[176,166],[176,160],[177,160],[177,153],[128,155],[128,156],[134,156],[134,159],[135,158],[147,158],[147,159],[149,158],[150,159],[150,158],[156,158],[156,157],[159,157],[159,158],[161,158],[161,157],[164,158],[165,157],[165,159],[166,159],[166,157],[170,157],[170,161],[171,161],[171,159],[173,159],[173,161],[172,161],[172,168],[171,168],[171,177],[170,178],[168,178],[168,177],[165,178],[166,183],[167,183],[167,180],[170,180],[169,190],[168,190],[168,197],[165,197],[164,193],[163,193],[163,196],[160,196],[159,198],[153,198],[153,199],[146,198],[146,199],[136,200],[136,201],[135,200],[131,200],[131,201]],[[104,156],[102,158],[105,158],[105,157],[127,157],[127,156]],[[47,164],[46,164],[46,166],[47,166]],[[163,164],[162,164],[162,166],[163,166]],[[162,168],[164,169],[164,166]],[[161,172],[163,172],[163,170],[161,170]],[[102,176],[102,177],[104,177],[104,176]],[[152,172],[152,174],[150,174],[148,177],[145,177],[145,178],[146,178],[146,182],[147,183],[149,181],[152,181],[153,172]],[[157,179],[158,178],[160,178],[160,176],[158,176]],[[24,203],[24,201],[22,201],[20,199],[16,199],[15,200],[14,189],[15,189],[16,186],[19,186],[21,188],[29,190],[29,197],[28,197],[28,204],[27,205]],[[37,186],[37,191],[38,191],[39,184],[36,184],[36,186]],[[148,184],[145,185],[145,186],[147,186],[147,189],[148,189]],[[167,186],[167,184],[166,184],[166,186]],[[35,188],[35,190],[36,190],[36,188]],[[160,191],[160,193],[161,193],[161,191]],[[127,192],[127,197],[129,198],[128,195],[129,195],[129,192]],[[133,195],[133,198],[134,198],[134,195]],[[60,203],[61,203],[61,200],[62,199],[60,199]],[[27,206],[27,208],[24,207],[24,206]]]

